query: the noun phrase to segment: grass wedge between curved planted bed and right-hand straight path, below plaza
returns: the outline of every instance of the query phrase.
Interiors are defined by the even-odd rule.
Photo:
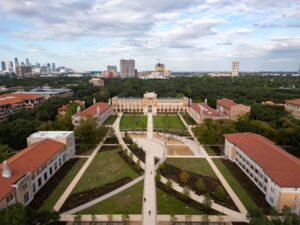
[[[181,170],[217,178],[206,159],[168,158],[165,162]]]

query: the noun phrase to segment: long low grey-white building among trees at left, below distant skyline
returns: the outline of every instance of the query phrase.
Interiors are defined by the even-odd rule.
[[[27,94],[36,94],[42,95],[45,99],[51,97],[70,97],[73,95],[72,89],[68,88],[50,88],[49,86],[43,86],[39,88],[34,88],[30,91],[18,91],[16,93],[27,93]]]

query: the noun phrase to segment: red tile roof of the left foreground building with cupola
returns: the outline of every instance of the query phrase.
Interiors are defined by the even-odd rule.
[[[63,143],[45,139],[23,149],[7,161],[12,174],[9,178],[2,177],[3,164],[0,164],[0,199],[13,190],[12,184],[26,173],[37,170],[64,146]]]

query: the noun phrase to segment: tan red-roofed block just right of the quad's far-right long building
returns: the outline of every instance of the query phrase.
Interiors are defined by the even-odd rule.
[[[240,116],[250,113],[251,107],[243,104],[237,104],[231,99],[223,98],[217,100],[217,110],[228,116],[229,119],[236,120]]]

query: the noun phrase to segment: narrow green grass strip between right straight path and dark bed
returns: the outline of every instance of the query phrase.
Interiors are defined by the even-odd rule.
[[[233,176],[232,172],[225,166],[225,164],[220,159],[213,159],[216,166],[219,168],[233,191],[237,194],[239,199],[242,201],[244,206],[249,209],[257,207],[256,203],[249,195],[247,190],[240,184],[240,182]],[[245,175],[246,176],[246,175]]]

